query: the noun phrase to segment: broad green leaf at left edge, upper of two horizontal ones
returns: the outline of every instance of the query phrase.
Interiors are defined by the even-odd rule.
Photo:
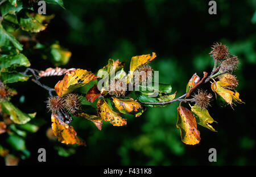
[[[1,70],[7,69],[10,67],[18,67],[18,66],[30,66],[30,61],[28,61],[27,57],[24,56],[24,54],[19,53],[19,54],[10,54],[6,55],[3,54],[0,57],[0,68]]]

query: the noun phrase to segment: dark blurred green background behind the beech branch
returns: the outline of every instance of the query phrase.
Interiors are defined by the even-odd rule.
[[[59,41],[72,52],[71,60],[63,67],[94,73],[109,58],[126,61],[127,71],[131,57],[155,52],[157,57],[150,65],[159,71],[159,81],[171,83],[178,96],[184,94],[194,73],[200,77],[203,71],[210,73],[212,44],[228,45],[230,53],[240,58],[237,91],[246,104],[237,104],[233,110],[218,107],[214,100],[209,113],[218,122],[213,124],[217,133],[199,125],[200,144],[183,144],[176,128],[179,103],[172,103],[148,108],[141,117],[128,116],[125,127],[104,122],[100,131],[89,121],[74,120],[73,126],[87,146],[77,147],[69,157],[60,157],[53,149],[55,142],[46,137],[51,126],[51,113],[44,103],[47,92],[28,81],[14,85],[26,98],[19,107],[24,112],[38,112],[47,124],[28,138],[31,157],[19,165],[256,165],[256,1],[216,1],[217,15],[208,14],[208,2],[64,0],[65,10],[47,5],[47,15],[56,16],[40,35],[43,40]],[[40,58],[29,59],[32,68],[53,67]],[[42,81],[54,87],[59,79]],[[209,84],[205,89],[212,92]],[[37,160],[40,147],[47,151],[45,163]],[[208,161],[212,147],[217,150],[214,163]]]

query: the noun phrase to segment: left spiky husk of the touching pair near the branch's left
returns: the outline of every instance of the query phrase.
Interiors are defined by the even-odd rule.
[[[64,109],[64,100],[60,96],[49,97],[46,103],[49,111],[53,113],[58,113]]]

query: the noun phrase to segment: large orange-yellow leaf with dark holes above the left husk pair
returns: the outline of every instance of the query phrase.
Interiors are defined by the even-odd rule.
[[[64,96],[96,78],[96,75],[91,71],[83,69],[71,70],[55,85],[56,94],[58,96]]]

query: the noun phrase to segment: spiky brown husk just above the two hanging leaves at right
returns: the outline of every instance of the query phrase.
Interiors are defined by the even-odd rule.
[[[210,106],[212,94],[208,94],[207,91],[197,90],[197,94],[193,95],[193,98],[197,106],[201,109],[206,109]]]

